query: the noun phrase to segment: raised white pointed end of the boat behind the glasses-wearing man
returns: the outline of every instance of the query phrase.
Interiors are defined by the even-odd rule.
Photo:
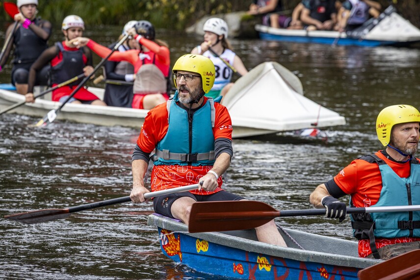
[[[277,62],[239,78],[222,104],[240,137],[345,125],[344,117],[304,97],[299,78]]]

